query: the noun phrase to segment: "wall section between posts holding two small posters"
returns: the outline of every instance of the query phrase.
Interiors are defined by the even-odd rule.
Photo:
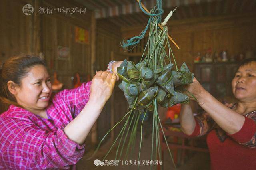
[[[53,4],[54,2],[54,4]],[[60,6],[67,1],[44,0],[42,6]],[[73,2],[61,6],[78,6]],[[80,7],[79,7],[80,8]],[[81,7],[84,8],[84,7]],[[64,83],[64,88],[72,88],[75,73],[78,72],[82,81],[86,81],[86,75],[91,74],[91,42],[89,44],[75,41],[75,27],[79,26],[89,31],[91,35],[92,12],[74,15],[43,15],[42,17],[42,43],[43,53],[51,71],[57,71],[58,79]],[[91,39],[92,37],[90,37]],[[68,47],[70,57],[68,60],[58,59],[58,46]]]

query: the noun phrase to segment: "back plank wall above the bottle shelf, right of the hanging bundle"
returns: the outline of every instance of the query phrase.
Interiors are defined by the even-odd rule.
[[[256,51],[256,13],[237,16],[202,17],[188,20],[169,20],[170,36],[179,45],[172,45],[178,65],[186,61],[193,70],[193,58],[197,52],[206,53],[208,48],[229,55],[238,55],[247,49]],[[122,28],[122,37],[138,35],[144,26]]]

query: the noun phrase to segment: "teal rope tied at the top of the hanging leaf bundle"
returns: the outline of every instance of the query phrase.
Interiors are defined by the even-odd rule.
[[[129,47],[130,45],[136,45],[140,42],[140,40],[142,38],[144,38],[145,34],[146,34],[146,31],[148,30],[148,27],[150,25],[150,22],[152,20],[152,16],[158,16],[158,23],[161,22],[162,20],[162,14],[164,13],[164,10],[162,9],[162,0],[156,0],[156,6],[154,7],[154,10],[153,12],[154,13],[148,13],[146,12],[143,8],[142,8],[142,5],[141,5],[141,0],[139,1],[139,6],[140,6],[140,9],[142,10],[142,12],[144,12],[145,14],[147,14],[149,17],[148,19],[148,24],[146,25],[146,28],[144,30],[142,30],[142,32],[140,32],[140,35],[139,36],[134,36],[133,38],[127,40],[126,42],[123,40],[121,46],[124,48],[124,49],[127,49],[127,47]]]

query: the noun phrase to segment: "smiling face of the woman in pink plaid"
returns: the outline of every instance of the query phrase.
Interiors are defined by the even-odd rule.
[[[52,94],[52,83],[44,65],[35,65],[22,78],[15,95],[17,103],[32,113],[44,111]]]

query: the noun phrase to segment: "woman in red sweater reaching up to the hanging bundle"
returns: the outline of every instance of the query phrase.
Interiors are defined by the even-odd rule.
[[[256,169],[256,58],[244,60],[232,80],[238,100],[230,108],[208,93],[194,79],[186,87],[207,114],[193,116],[189,104],[182,105],[180,123],[185,134],[207,134],[212,170]]]

